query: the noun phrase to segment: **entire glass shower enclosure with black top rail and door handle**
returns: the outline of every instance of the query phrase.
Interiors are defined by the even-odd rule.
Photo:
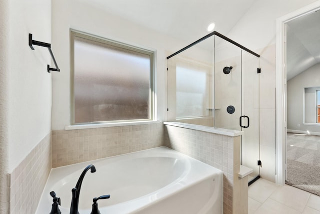
[[[168,121],[243,131],[241,164],[259,177],[259,55],[212,32],[167,57]]]

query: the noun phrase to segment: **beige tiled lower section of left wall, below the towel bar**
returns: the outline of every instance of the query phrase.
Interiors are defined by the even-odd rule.
[[[33,214],[51,169],[51,133],[7,174],[9,213]]]

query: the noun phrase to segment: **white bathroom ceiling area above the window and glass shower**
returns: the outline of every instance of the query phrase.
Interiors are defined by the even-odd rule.
[[[254,0],[91,0],[107,13],[138,25],[184,40],[186,45],[208,34],[214,22],[221,34],[227,34],[247,12]]]

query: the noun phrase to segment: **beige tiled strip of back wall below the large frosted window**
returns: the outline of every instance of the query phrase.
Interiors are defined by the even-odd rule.
[[[163,124],[52,131],[52,168],[163,145]]]

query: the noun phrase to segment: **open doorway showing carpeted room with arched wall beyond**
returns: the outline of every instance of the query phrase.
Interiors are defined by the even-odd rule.
[[[285,183],[320,195],[320,12],[298,17],[286,29]]]

